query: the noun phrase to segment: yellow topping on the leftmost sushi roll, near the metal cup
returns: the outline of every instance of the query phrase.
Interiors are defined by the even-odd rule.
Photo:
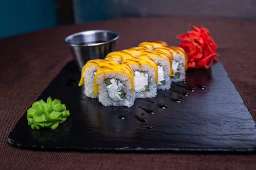
[[[106,63],[118,63],[115,60],[108,60],[108,59],[95,59],[95,60],[89,60],[87,61],[87,63],[83,66],[82,70],[81,70],[81,78],[79,81],[79,86],[84,84],[84,78],[83,78],[83,74],[85,71],[85,68],[88,66],[100,66],[101,64],[106,64]]]

